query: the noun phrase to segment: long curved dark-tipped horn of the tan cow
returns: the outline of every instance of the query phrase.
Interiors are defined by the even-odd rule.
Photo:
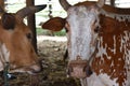
[[[24,8],[16,12],[16,16],[18,16],[18,18],[23,19],[28,14],[34,14],[36,12],[39,12],[39,11],[43,10],[46,6],[47,6],[47,4]]]

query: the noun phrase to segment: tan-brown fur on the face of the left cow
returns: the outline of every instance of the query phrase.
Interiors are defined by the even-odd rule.
[[[16,68],[29,67],[38,62],[31,42],[27,39],[30,29],[24,24],[16,22],[14,30],[6,30],[0,24],[0,42],[4,43],[10,52],[10,63]],[[12,68],[13,69],[13,68]]]

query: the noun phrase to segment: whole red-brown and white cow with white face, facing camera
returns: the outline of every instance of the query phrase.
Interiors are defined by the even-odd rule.
[[[42,28],[58,31],[65,26],[68,73],[82,86],[130,86],[130,11],[104,2],[72,6],[60,0],[67,18],[52,18]]]

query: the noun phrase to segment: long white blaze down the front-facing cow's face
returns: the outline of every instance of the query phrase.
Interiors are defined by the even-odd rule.
[[[76,60],[77,56],[81,59],[89,59],[93,54],[95,46],[95,35],[92,32],[92,24],[98,20],[98,14],[94,10],[88,10],[86,6],[75,6],[68,10],[67,22],[70,26],[70,44],[68,45],[69,60]],[[73,51],[72,51],[73,49]]]

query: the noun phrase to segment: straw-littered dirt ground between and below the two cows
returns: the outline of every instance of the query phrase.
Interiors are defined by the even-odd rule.
[[[67,61],[63,60],[65,51],[65,37],[38,37],[38,55],[42,60],[42,72],[34,76],[15,73],[16,78],[6,83],[9,86],[80,86],[79,80],[67,77]],[[4,86],[3,77],[0,77],[0,86]]]

